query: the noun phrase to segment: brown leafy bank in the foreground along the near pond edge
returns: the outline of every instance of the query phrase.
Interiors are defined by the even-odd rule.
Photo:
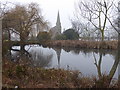
[[[120,88],[117,81],[108,86],[105,75],[99,80],[96,77],[83,77],[78,71],[33,68],[27,66],[25,60],[16,64],[4,59],[2,79],[6,88]]]

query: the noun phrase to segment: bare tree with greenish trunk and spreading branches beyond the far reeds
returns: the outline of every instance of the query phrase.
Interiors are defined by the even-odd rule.
[[[82,16],[85,22],[90,22],[96,30],[101,32],[102,41],[104,41],[104,31],[107,27],[107,18],[110,19],[109,13],[113,6],[113,1],[108,0],[90,0],[88,2],[78,3],[77,18],[81,19]]]

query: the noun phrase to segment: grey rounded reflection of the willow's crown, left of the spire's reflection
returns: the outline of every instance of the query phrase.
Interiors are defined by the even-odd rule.
[[[50,67],[51,66],[51,60],[53,57],[53,54],[45,55],[42,50],[36,51],[32,50],[30,51],[31,54],[31,63],[35,67]]]

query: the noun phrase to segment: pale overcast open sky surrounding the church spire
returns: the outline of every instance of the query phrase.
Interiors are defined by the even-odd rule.
[[[63,30],[71,27],[70,18],[73,17],[74,4],[78,0],[0,0],[0,2],[7,1],[18,4],[26,4],[31,2],[38,3],[42,9],[44,18],[51,23],[51,27],[56,24],[57,13],[59,10]]]

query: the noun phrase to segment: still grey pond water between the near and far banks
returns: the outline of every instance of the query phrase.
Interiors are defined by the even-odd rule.
[[[19,46],[12,48],[20,49]],[[102,73],[109,74],[114,65],[116,55],[116,51],[110,50],[43,48],[39,45],[27,45],[25,49],[30,54],[31,66],[79,70],[83,76],[97,76],[96,65],[99,65]],[[11,53],[12,60],[16,61],[20,58],[18,51],[11,51]],[[118,79],[119,72],[120,62],[114,78]]]

